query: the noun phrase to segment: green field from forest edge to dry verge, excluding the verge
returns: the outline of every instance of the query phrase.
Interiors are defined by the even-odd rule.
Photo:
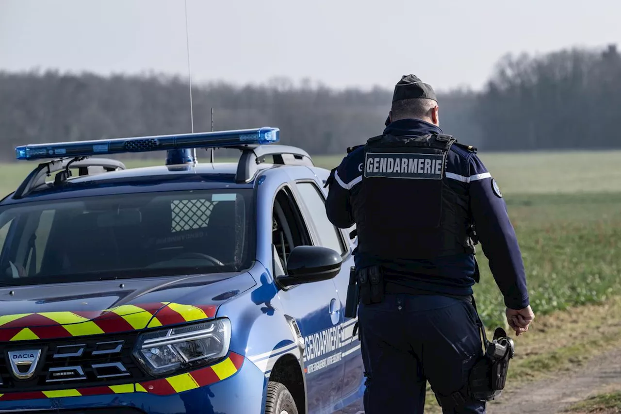
[[[505,196],[537,315],[621,294],[621,152],[479,155]],[[332,168],[341,159],[316,157],[315,163]],[[35,165],[0,164],[0,195]],[[504,324],[502,297],[480,247],[479,311],[489,326]]]

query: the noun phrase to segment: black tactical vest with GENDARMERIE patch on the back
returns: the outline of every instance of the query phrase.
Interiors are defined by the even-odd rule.
[[[384,259],[474,253],[468,198],[445,177],[451,136],[369,139],[353,197],[358,251]]]

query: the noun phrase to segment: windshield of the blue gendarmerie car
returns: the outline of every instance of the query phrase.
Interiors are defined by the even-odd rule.
[[[252,189],[0,208],[0,284],[233,272],[254,257]]]

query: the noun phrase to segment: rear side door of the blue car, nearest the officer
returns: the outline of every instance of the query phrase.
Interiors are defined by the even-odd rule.
[[[306,206],[307,219],[312,221],[315,232],[317,233],[318,245],[329,247],[339,252],[343,257],[343,265],[340,273],[333,278],[338,293],[338,309],[340,310],[340,348],[343,377],[342,383],[342,402],[349,405],[360,398],[361,387],[364,383],[364,367],[360,354],[360,341],[358,336],[353,335],[354,325],[357,318],[345,319],[345,300],[347,298],[347,287],[349,284],[350,268],[354,265],[351,246],[344,237],[344,231],[335,228],[330,223],[325,213],[325,194],[321,187],[314,180],[298,180],[296,191],[299,193],[304,205]]]

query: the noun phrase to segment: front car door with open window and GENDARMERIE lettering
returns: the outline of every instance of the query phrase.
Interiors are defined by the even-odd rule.
[[[288,185],[276,193],[273,206],[274,277],[285,274],[286,259],[296,246],[311,245],[312,223],[302,216]],[[342,398],[340,301],[332,280],[305,283],[279,292],[286,315],[295,318],[304,338],[309,413],[332,413]]]

